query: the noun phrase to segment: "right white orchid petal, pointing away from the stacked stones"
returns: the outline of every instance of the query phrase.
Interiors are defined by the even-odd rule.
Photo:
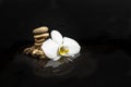
[[[81,50],[80,45],[74,39],[68,37],[63,38],[63,46],[67,46],[69,48],[69,53],[66,57],[74,55]]]

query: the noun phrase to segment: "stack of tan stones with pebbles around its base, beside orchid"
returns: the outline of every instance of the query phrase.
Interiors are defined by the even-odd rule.
[[[33,57],[38,57],[39,59],[44,59],[45,54],[41,49],[41,45],[45,41],[45,39],[49,36],[47,32],[48,32],[48,27],[46,26],[34,29],[33,30],[34,40],[35,40],[34,46],[24,49],[24,53],[32,54]]]

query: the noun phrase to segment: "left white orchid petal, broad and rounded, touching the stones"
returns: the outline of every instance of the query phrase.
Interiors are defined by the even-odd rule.
[[[51,39],[47,39],[41,46],[41,49],[44,50],[46,57],[49,59],[55,59],[58,57],[58,44]]]

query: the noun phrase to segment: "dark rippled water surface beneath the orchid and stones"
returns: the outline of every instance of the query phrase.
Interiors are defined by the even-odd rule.
[[[1,73],[3,87],[130,86],[131,57],[124,49],[82,46],[81,53],[72,61],[52,62],[25,55],[23,48],[15,50]]]

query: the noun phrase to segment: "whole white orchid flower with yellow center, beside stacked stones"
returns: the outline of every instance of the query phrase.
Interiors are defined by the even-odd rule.
[[[81,49],[75,40],[69,37],[62,37],[58,30],[51,32],[51,38],[47,39],[41,48],[46,57],[53,61],[59,60],[61,57],[73,57]]]

